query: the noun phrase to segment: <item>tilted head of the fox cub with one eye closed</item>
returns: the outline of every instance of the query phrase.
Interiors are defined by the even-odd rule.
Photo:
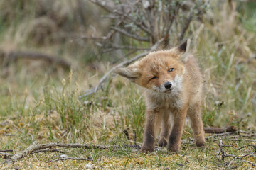
[[[190,40],[171,50],[151,52],[116,73],[153,91],[171,94],[181,89]]]

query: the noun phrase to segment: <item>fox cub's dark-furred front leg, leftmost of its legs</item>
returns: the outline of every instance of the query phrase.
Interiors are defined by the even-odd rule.
[[[144,140],[142,152],[153,152],[156,145],[156,134],[161,123],[161,113],[159,111],[146,111],[146,125],[144,130]]]

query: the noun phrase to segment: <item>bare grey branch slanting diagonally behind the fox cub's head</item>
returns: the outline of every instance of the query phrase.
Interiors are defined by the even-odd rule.
[[[161,45],[161,42],[163,42],[163,41],[164,41],[164,38],[161,38],[161,40],[157,41],[157,42],[151,47],[151,49],[150,49],[149,51],[144,52],[144,53],[142,53],[142,54],[139,54],[139,55],[133,57],[133,58],[130,59],[130,60],[121,62],[120,64],[118,64],[118,65],[112,67],[112,69],[110,69],[110,70],[100,79],[99,83],[98,83],[95,87],[93,87],[92,89],[90,89],[89,91],[87,91],[85,94],[79,96],[79,98],[83,98],[83,97],[86,97],[86,96],[90,96],[90,95],[92,95],[92,94],[95,94],[99,89],[102,88],[102,84],[103,84],[105,81],[107,81],[108,79],[110,79],[110,76],[111,76],[112,72],[114,72],[115,69],[118,69],[119,67],[123,67],[123,66],[125,66],[125,65],[128,65],[128,64],[134,62],[135,60],[138,60],[140,57],[144,57],[144,56],[148,55],[150,52],[156,50],[156,49],[159,47],[159,45]]]

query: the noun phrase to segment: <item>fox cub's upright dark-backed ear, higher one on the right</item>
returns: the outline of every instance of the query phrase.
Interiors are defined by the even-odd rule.
[[[191,43],[191,40],[188,39],[178,47],[174,48],[174,52],[176,52],[176,54],[178,55],[178,57],[183,63],[185,63],[186,60],[188,59],[188,50],[190,47],[190,43]]]

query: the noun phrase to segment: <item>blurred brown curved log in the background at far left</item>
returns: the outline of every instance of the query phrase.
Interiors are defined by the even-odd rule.
[[[44,60],[50,64],[57,64],[63,67],[64,69],[70,69],[71,65],[69,62],[61,59],[60,57],[55,57],[53,55],[46,55],[40,52],[22,52],[22,51],[13,51],[9,53],[1,53],[0,57],[4,57],[4,64],[9,65],[10,62],[15,62],[17,59],[29,59],[29,60]]]

